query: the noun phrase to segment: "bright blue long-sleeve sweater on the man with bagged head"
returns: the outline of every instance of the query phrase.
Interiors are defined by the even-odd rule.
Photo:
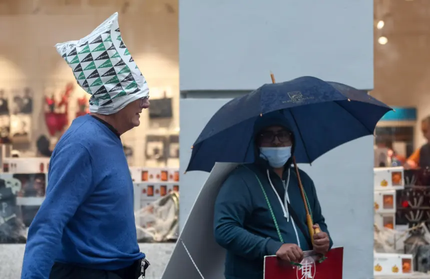
[[[139,251],[133,182],[120,138],[76,118],[51,157],[46,198],[29,228],[22,279],[49,278],[55,261],[115,270]]]

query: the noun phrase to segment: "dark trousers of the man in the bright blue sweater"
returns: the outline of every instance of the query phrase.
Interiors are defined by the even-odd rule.
[[[55,262],[49,279],[138,279],[141,260],[117,270],[91,269],[70,263]]]

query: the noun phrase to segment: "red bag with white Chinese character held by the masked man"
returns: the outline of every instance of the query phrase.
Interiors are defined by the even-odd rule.
[[[278,259],[264,257],[264,279],[342,279],[343,247],[332,248],[319,262],[313,251],[305,251],[301,265],[296,266]]]

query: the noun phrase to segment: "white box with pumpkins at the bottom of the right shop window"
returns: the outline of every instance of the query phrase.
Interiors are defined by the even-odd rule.
[[[413,272],[411,254],[374,253],[373,274],[377,275],[405,275]]]

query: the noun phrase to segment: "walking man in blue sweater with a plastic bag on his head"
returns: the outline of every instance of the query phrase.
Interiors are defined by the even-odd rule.
[[[149,263],[137,243],[120,135],[149,107],[147,83],[121,37],[118,13],[56,48],[91,94],[90,114],[76,118],[53,151],[21,278],[138,278]]]

